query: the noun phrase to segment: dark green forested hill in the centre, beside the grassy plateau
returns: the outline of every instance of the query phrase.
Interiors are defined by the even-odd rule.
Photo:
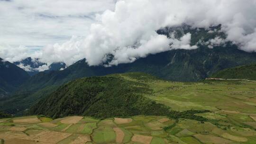
[[[139,77],[152,76],[138,73]],[[137,76],[130,73],[129,76]],[[64,84],[30,109],[30,114],[49,117],[84,115],[91,117],[127,117],[165,115],[168,108],[142,96],[145,84],[128,81],[120,75],[82,78]]]

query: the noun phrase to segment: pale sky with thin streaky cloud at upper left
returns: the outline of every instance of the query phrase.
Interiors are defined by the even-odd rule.
[[[0,0],[0,45],[31,50],[88,35],[115,0]]]

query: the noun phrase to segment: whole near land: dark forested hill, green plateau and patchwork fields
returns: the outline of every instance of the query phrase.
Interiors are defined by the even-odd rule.
[[[76,93],[88,88],[103,91],[96,95]],[[132,90],[130,94],[144,100],[129,102],[122,90]],[[111,99],[108,93],[117,101],[104,99],[104,95]],[[76,106],[68,106],[65,94]],[[80,105],[75,100],[78,96],[91,105]],[[96,103],[105,104],[98,107],[93,97]],[[84,106],[87,110],[79,113]],[[21,140],[26,144],[255,144],[255,107],[255,81],[174,82],[141,72],[112,74],[65,84],[30,109],[34,116],[0,119],[0,137],[3,144]]]

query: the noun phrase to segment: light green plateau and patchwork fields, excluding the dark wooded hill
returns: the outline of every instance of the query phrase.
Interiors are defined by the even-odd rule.
[[[194,114],[206,120],[149,115],[14,117],[0,119],[0,139],[4,144],[256,144],[254,81],[172,82],[136,73],[116,76],[141,83],[137,88],[148,89],[143,97],[170,111],[209,110]]]

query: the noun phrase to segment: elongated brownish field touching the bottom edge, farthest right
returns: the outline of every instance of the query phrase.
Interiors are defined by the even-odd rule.
[[[214,136],[214,135],[201,135],[197,134],[194,135],[197,139],[199,139],[201,142],[206,144],[229,144],[232,143],[232,141],[229,141],[227,139]]]

